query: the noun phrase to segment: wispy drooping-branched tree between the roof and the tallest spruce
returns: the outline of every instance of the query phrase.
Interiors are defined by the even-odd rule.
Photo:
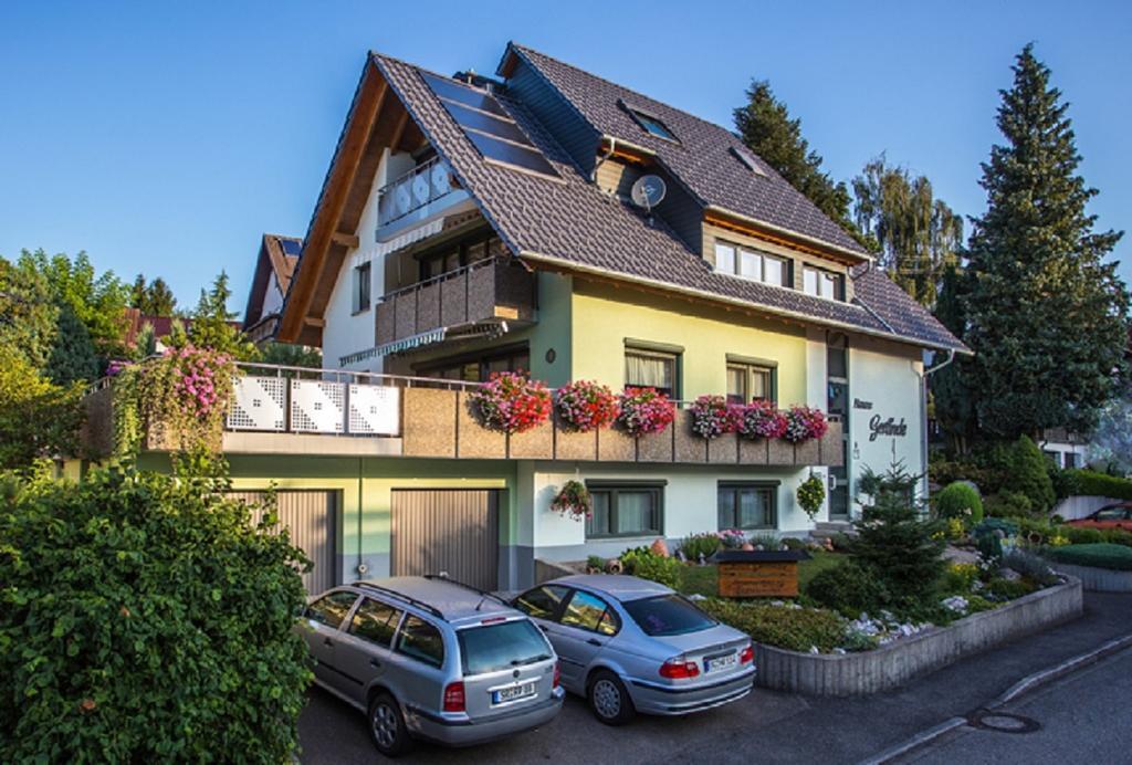
[[[914,300],[934,306],[944,269],[959,259],[962,217],[935,198],[926,177],[890,165],[883,154],[852,189],[857,227],[874,243],[881,267]]]

